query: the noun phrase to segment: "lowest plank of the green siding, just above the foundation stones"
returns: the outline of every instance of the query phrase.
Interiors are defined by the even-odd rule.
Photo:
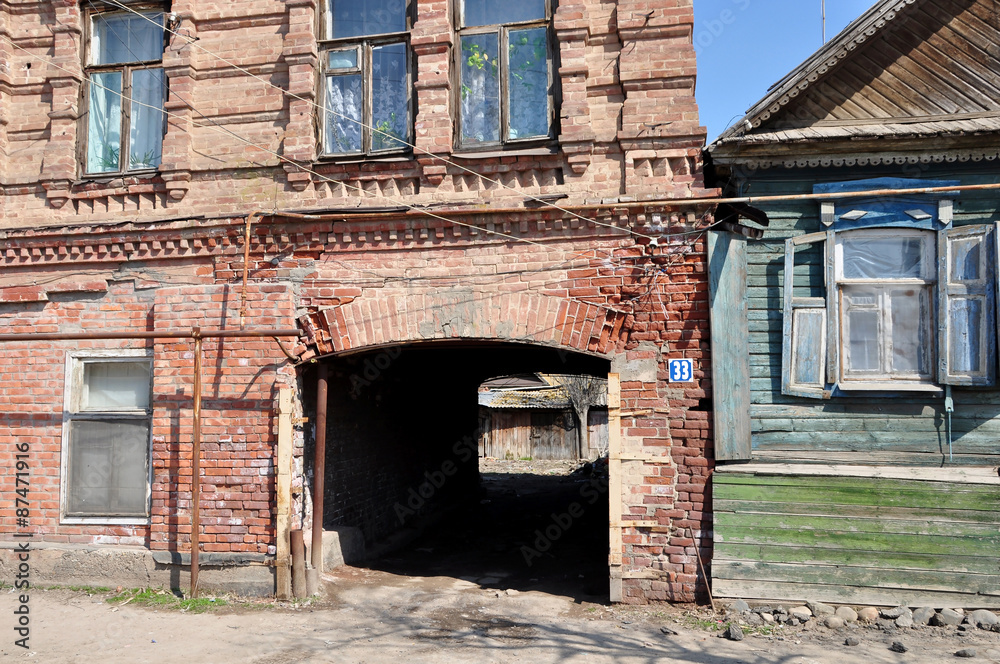
[[[1000,608],[1000,597],[957,592],[929,592],[808,583],[713,579],[715,597],[772,601],[807,600],[855,606],[931,606],[936,608]]]

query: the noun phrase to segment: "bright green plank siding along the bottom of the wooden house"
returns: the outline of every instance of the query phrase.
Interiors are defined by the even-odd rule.
[[[1000,485],[716,473],[719,597],[1000,607]]]

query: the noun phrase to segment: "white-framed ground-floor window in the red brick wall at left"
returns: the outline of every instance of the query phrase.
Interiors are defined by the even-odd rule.
[[[120,351],[125,352],[125,351]],[[150,361],[70,358],[63,422],[66,519],[146,519]]]

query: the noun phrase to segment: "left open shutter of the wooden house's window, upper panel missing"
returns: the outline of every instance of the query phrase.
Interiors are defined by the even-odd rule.
[[[785,242],[785,315],[781,354],[781,393],[828,399],[827,298],[796,296],[796,247],[826,242],[826,233],[813,233]],[[824,269],[825,269],[824,261]],[[829,294],[829,293],[827,293]]]

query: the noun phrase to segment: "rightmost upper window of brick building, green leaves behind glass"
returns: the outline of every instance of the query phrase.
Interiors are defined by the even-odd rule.
[[[459,144],[550,138],[555,111],[548,0],[459,2]]]

